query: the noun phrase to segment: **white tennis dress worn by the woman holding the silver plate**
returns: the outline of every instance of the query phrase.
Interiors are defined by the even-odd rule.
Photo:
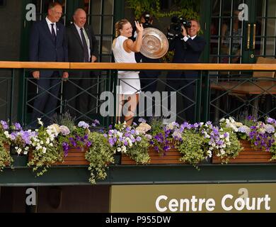
[[[118,36],[112,47],[115,62],[136,63],[134,52],[127,52],[123,43],[125,36]],[[118,71],[119,94],[137,94],[141,92],[139,71]]]

